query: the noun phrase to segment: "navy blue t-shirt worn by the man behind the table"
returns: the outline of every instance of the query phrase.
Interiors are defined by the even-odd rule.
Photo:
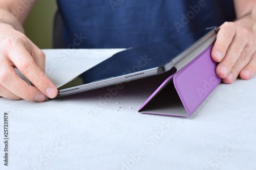
[[[232,0],[57,0],[57,3],[68,48],[139,46],[220,26],[236,18]]]

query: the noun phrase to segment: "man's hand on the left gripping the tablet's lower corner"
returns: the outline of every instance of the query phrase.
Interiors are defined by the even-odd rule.
[[[16,75],[15,67],[32,85]],[[44,52],[22,32],[0,23],[0,96],[42,102],[56,95],[56,86],[45,75]]]

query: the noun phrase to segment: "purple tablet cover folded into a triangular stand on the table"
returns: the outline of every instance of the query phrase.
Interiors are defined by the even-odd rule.
[[[140,107],[139,112],[189,117],[220,84],[212,44],[194,60],[170,75]]]

